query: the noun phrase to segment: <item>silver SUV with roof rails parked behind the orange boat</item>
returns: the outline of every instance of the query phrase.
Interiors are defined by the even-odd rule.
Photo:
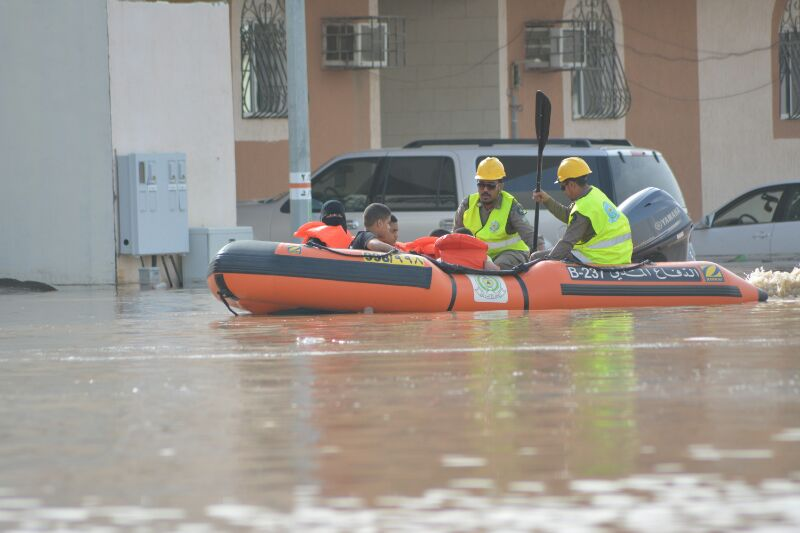
[[[363,229],[362,212],[372,202],[388,205],[400,221],[400,239],[409,241],[436,228],[452,229],[459,202],[476,192],[475,169],[485,157],[500,158],[506,169],[505,190],[528,209],[533,224],[536,187],[535,139],[462,139],[414,141],[402,148],[353,152],[322,165],[311,178],[312,210],[330,199],[342,201],[348,226]],[[680,187],[658,151],[637,148],[627,140],[550,139],[542,161],[542,188],[569,203],[554,184],[561,160],[580,156],[592,168],[589,183],[617,205],[646,187],[668,192],[686,210]],[[252,226],[260,240],[286,241],[290,227],[288,192],[261,201],[240,202],[238,224]],[[539,233],[548,244],[566,225],[540,209]]]

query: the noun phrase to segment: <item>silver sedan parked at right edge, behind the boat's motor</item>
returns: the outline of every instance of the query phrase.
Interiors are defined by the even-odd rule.
[[[737,196],[703,217],[692,245],[697,259],[791,270],[800,264],[800,181]]]

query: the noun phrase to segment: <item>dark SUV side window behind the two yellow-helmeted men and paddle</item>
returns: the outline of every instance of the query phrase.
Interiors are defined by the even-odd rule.
[[[481,156],[475,161],[475,168],[486,156]],[[506,169],[503,190],[511,193],[526,209],[532,209],[536,202],[531,193],[536,189],[536,156],[503,156],[499,157]],[[558,176],[558,165],[563,157],[545,157],[542,159],[542,190],[563,205],[569,205],[570,199],[555,184]],[[584,158],[591,168],[594,167],[593,158]],[[598,186],[598,174],[589,175],[589,184]]]

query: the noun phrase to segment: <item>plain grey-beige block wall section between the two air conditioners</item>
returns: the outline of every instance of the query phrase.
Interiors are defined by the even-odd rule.
[[[406,65],[381,71],[382,144],[499,137],[498,3],[381,0],[379,7],[406,19]]]

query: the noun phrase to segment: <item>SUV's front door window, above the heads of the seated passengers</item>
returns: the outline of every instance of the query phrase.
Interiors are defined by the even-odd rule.
[[[342,159],[311,180],[311,209],[318,213],[328,200],[339,200],[346,211],[363,211],[370,203],[380,157]]]

